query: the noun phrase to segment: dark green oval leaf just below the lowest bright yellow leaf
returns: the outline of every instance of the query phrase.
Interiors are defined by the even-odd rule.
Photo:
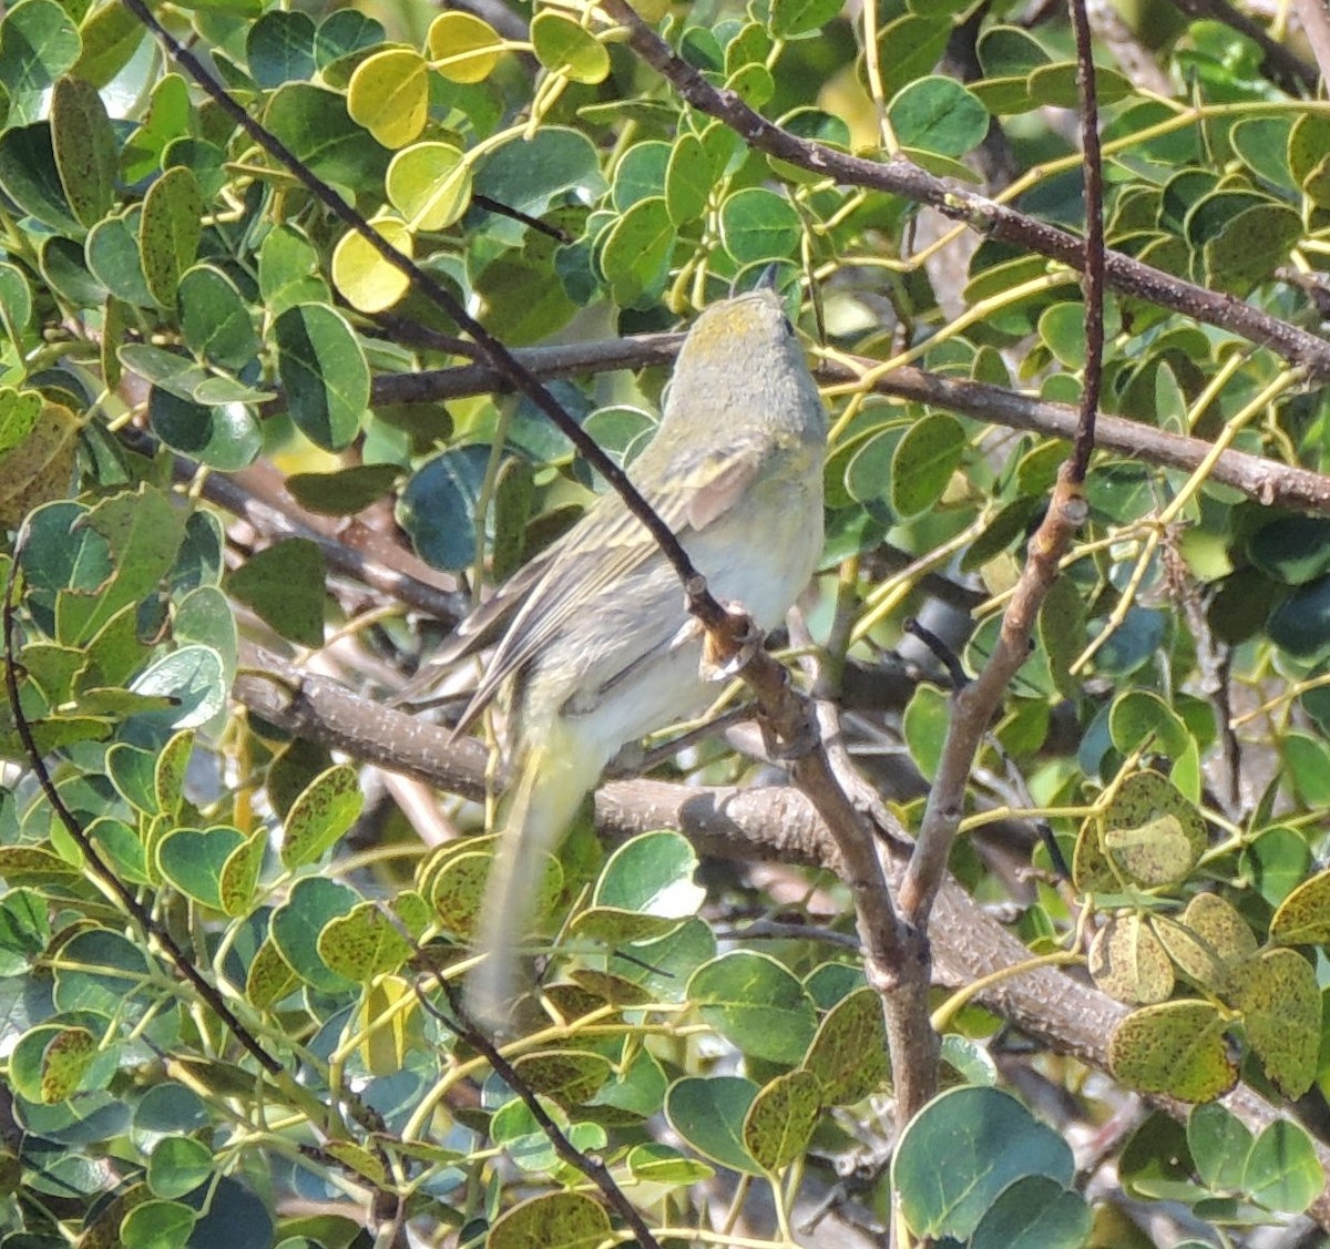
[[[348,446],[370,403],[370,368],[346,318],[301,303],[277,318],[273,339],[291,419],[326,451]]]

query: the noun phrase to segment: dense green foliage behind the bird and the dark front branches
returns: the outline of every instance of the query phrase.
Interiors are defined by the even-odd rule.
[[[1065,15],[640,4],[733,92],[684,104],[613,5],[466,8],[153,12],[621,462],[665,331],[781,266],[835,424],[791,641],[916,830],[1084,386]],[[5,1245],[626,1236],[591,1156],[710,1242],[861,1244],[892,1185],[898,1236],[975,1245],[1325,1221],[1330,113],[1282,9],[1092,9],[1089,521],[934,916],[943,984],[999,979],[939,988],[948,1089],[894,1155],[841,865],[743,728],[551,865],[511,1065],[454,1019],[484,752],[372,700],[601,487],[121,0],[5,13]]]

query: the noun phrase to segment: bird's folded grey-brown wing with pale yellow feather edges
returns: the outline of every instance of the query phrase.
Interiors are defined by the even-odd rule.
[[[743,497],[762,466],[763,451],[753,442],[709,451],[662,475],[673,482],[705,475],[704,486],[669,493],[645,491],[644,496],[686,545],[690,535],[704,532]],[[455,732],[466,732],[503,682],[556,638],[576,613],[610,605],[609,596],[658,551],[656,539],[624,500],[617,493],[602,495],[592,512],[549,549],[539,580],[529,587]]]

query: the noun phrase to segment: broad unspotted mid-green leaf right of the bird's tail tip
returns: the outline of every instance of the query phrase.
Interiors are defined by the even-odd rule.
[[[817,1031],[809,991],[765,954],[735,950],[698,967],[688,996],[712,1028],[750,1057],[801,1063]]]

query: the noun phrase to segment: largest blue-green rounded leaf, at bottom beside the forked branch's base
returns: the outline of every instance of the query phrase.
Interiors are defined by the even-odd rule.
[[[1073,1173],[1061,1136],[994,1088],[954,1088],[934,1099],[906,1128],[891,1160],[911,1232],[960,1241],[1016,1180],[1041,1176],[1065,1188]]]

